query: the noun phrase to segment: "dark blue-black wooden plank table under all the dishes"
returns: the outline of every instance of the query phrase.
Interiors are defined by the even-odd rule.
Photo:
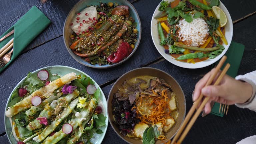
[[[166,61],[156,50],[150,35],[153,12],[161,0],[130,0],[136,8],[142,25],[142,38],[135,54],[125,63],[111,69],[93,69],[76,62],[67,52],[63,42],[63,24],[70,9],[79,0],[1,0],[0,35],[24,15],[32,6],[38,7],[52,24],[35,38],[23,53],[0,73],[0,143],[8,144],[4,128],[4,109],[12,89],[27,75],[45,66],[65,65],[82,70],[102,88],[106,98],[113,83],[125,72],[139,67],[154,67],[171,74],[181,85],[187,102],[187,111],[192,106],[191,95],[196,82],[211,67],[185,69]],[[256,70],[256,1],[223,0],[233,20],[233,40],[245,45],[245,52],[238,74]],[[248,109],[230,106],[227,116],[199,117],[184,140],[185,144],[234,144],[256,134],[256,113]],[[105,144],[126,143],[113,131],[110,124],[103,140]]]

